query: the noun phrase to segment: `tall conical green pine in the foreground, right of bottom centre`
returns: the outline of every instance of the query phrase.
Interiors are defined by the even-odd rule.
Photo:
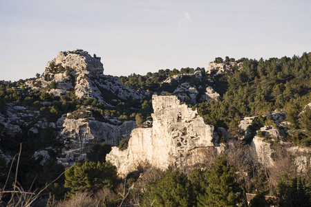
[[[243,186],[234,180],[235,170],[227,164],[226,157],[218,157],[205,179],[209,184],[205,193],[198,196],[198,206],[236,206],[245,199]]]

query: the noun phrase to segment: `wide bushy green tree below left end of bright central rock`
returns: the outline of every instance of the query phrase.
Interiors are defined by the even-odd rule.
[[[75,163],[65,172],[66,188],[70,188],[68,195],[73,195],[79,191],[87,190],[96,193],[100,189],[113,188],[117,171],[110,162],[84,162]]]

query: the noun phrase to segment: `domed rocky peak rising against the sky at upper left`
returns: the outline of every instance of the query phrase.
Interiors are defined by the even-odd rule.
[[[66,95],[74,90],[79,98],[97,99],[108,106],[129,100],[141,100],[144,95],[149,95],[147,92],[122,86],[117,77],[104,75],[100,57],[91,57],[84,50],[58,52],[57,57],[46,66],[41,77],[26,82],[32,89],[50,87],[55,81],[56,87],[48,89],[55,96]]]

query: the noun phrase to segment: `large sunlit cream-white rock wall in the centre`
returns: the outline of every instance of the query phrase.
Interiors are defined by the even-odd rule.
[[[196,155],[214,146],[214,126],[206,125],[196,110],[180,103],[175,96],[152,97],[152,128],[135,128],[131,132],[129,148],[124,151],[113,147],[106,160],[117,166],[120,176],[135,170],[139,164],[148,162],[161,169],[169,165],[197,164],[202,161]],[[189,156],[191,154],[191,159]]]

